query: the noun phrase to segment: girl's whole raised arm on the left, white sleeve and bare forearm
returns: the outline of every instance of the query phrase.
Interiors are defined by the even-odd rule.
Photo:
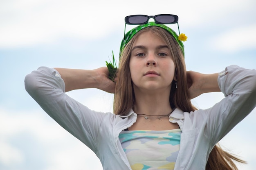
[[[75,70],[40,67],[25,77],[25,88],[49,116],[95,151],[101,123],[106,115],[112,113],[92,111],[65,92],[82,88],[114,92],[115,83],[107,75],[107,68]]]

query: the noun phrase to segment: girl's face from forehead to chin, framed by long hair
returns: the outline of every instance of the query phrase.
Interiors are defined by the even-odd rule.
[[[141,33],[134,41],[130,74],[135,92],[171,89],[175,65],[170,50],[151,31]]]

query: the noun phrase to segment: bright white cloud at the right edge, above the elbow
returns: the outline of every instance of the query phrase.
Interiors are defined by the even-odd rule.
[[[224,52],[237,52],[256,48],[256,24],[231,28],[210,40],[211,48]]]

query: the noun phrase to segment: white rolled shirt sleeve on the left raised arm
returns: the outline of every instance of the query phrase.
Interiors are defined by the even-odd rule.
[[[40,67],[25,77],[25,89],[43,110],[90,149],[97,148],[99,127],[106,113],[92,111],[65,94],[57,70]]]

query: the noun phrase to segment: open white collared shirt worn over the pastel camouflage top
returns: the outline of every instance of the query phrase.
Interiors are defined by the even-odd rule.
[[[204,170],[213,146],[256,106],[256,70],[231,65],[218,84],[226,97],[213,107],[171,113],[182,131],[175,170]],[[136,121],[132,109],[126,116],[88,109],[65,94],[65,83],[52,68],[28,74],[25,87],[49,116],[94,151],[104,170],[131,170],[118,136]]]

